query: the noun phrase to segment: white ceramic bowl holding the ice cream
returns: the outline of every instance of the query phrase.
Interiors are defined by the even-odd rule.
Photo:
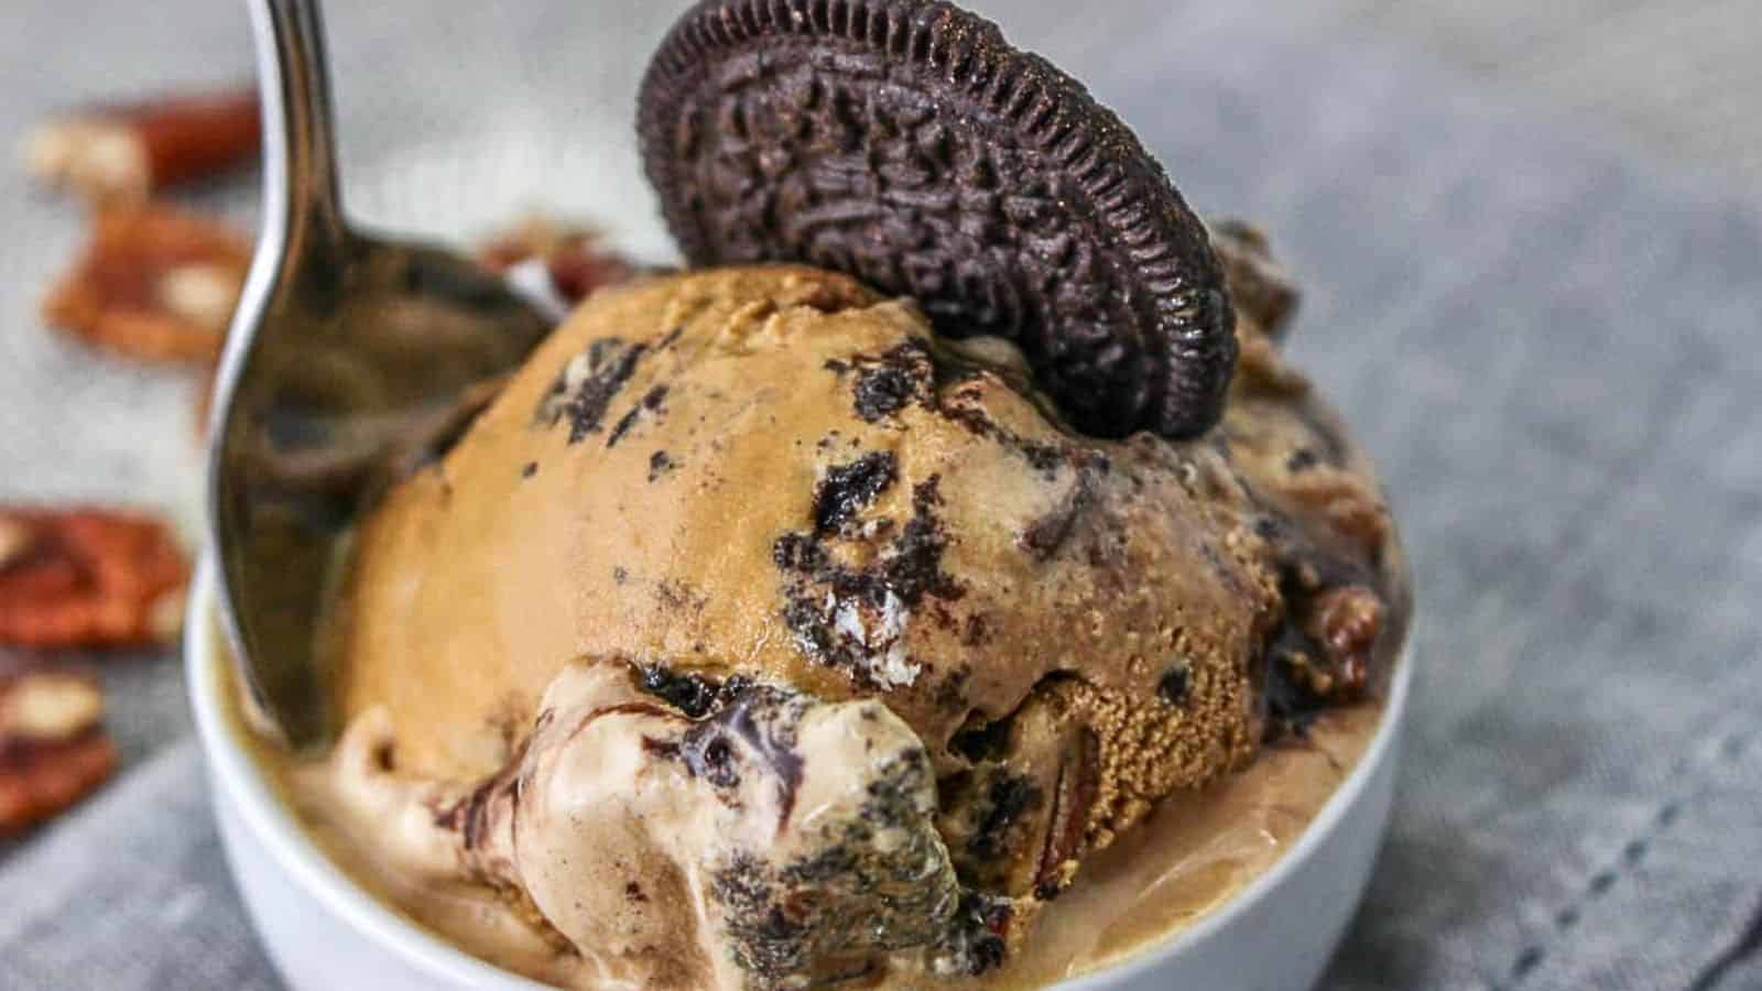
[[[226,855],[270,957],[294,991],[537,991],[407,922],[333,866],[275,797],[218,695],[211,566],[185,624],[190,702]],[[1339,943],[1388,825],[1411,656],[1359,767],[1297,845],[1225,908],[1059,991],[1302,991]]]

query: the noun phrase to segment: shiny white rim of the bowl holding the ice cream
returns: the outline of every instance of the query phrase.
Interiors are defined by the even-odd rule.
[[[197,735],[208,760],[217,790],[226,792],[233,811],[263,843],[277,866],[291,876],[314,901],[335,912],[344,922],[363,933],[370,942],[388,947],[400,959],[425,975],[451,980],[469,980],[474,987],[492,991],[543,991],[550,984],[511,973],[455,947],[379,901],[340,866],[337,866],[310,838],[292,809],[277,795],[248,748],[236,739],[218,698],[217,628],[210,622],[213,610],[213,559],[204,554],[190,584],[189,615],[183,630],[183,658],[190,709]],[[1131,950],[1122,959],[1099,970],[1059,980],[1048,991],[1108,991],[1119,982],[1144,977],[1166,961],[1188,952],[1230,928],[1255,905],[1270,898],[1286,880],[1327,843],[1341,820],[1359,804],[1376,771],[1394,756],[1401,725],[1406,719],[1408,693],[1413,682],[1413,630],[1396,658],[1388,695],[1376,734],[1344,781],[1334,788],[1316,816],[1267,871],[1233,894],[1223,906],[1205,913],[1198,922]]]

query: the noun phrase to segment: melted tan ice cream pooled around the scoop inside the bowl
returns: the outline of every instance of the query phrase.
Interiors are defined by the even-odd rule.
[[[217,637],[218,640],[218,637]],[[559,954],[474,885],[416,885],[375,857],[375,838],[324,813],[322,764],[296,760],[247,726],[233,667],[217,667],[233,734],[317,843],[382,905],[472,956],[583,991],[624,989]],[[1323,712],[1302,741],[1263,748],[1242,772],[1163,802],[1114,846],[1091,857],[1077,883],[1034,920],[1003,970],[978,979],[897,975],[888,987],[1025,991],[1122,963],[1221,908],[1290,850],[1376,735],[1380,704]]]

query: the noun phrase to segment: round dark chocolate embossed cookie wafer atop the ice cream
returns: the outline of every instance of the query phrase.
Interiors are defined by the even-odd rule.
[[[1205,227],[1089,92],[930,0],[705,0],[640,139],[694,265],[800,261],[999,335],[1078,428],[1216,423],[1233,317]]]

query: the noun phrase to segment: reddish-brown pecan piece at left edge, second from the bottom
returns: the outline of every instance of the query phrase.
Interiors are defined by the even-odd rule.
[[[0,644],[132,647],[171,638],[189,566],[155,520],[99,510],[0,510]]]

